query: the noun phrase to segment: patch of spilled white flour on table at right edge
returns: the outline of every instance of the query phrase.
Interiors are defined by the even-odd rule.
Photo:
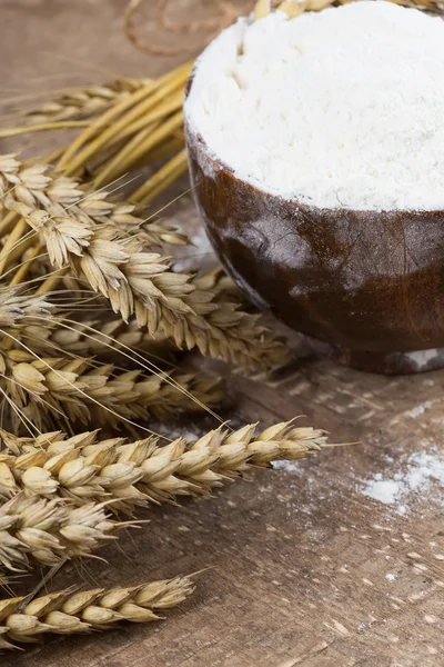
[[[444,452],[432,450],[412,454],[406,466],[402,467],[402,471],[391,477],[376,472],[372,479],[363,480],[359,490],[384,505],[395,506],[401,515],[407,511],[407,502],[414,495],[423,498],[434,494],[444,500]]]

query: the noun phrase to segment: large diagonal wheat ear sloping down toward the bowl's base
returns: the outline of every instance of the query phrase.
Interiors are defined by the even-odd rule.
[[[113,211],[107,193],[81,199],[75,180],[51,179],[43,165],[23,169],[14,156],[0,159],[1,179],[4,206],[43,235],[51,263],[57,268],[69,263],[125,321],[135,315],[140,327],[161,331],[178,347],[198,347],[203,355],[248,368],[287,360],[287,349],[258,325],[259,316],[231,301],[214,302],[213,292],[196,289],[190,275],[173,272],[168,258],[147,252],[140,239],[122,239],[105,225]],[[0,255],[3,262],[7,246]]]

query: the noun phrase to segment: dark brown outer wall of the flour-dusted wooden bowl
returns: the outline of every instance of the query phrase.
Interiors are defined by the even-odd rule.
[[[189,127],[186,141],[210,239],[253,301],[355,357],[444,347],[444,211],[303,206],[236,178]]]

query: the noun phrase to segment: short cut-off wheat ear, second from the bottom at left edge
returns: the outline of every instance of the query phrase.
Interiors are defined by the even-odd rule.
[[[71,507],[60,499],[18,494],[0,506],[0,563],[7,569],[20,570],[30,566],[29,558],[56,565],[88,556],[115,539],[115,532],[125,525],[110,519],[104,504]]]

